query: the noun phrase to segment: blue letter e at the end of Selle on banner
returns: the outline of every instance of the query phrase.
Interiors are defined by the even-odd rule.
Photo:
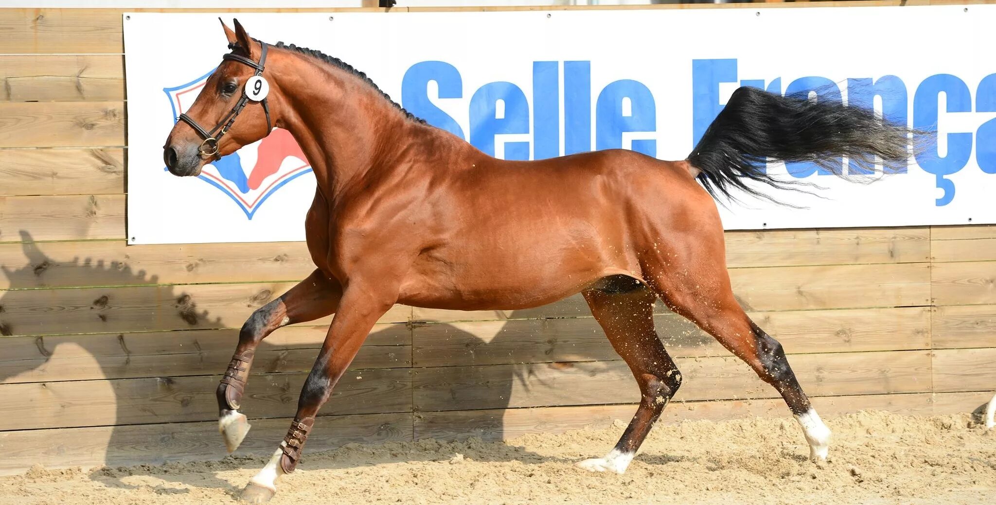
[[[629,100],[629,115],[625,116],[622,102]],[[622,132],[655,131],[657,129],[656,108],[650,90],[631,80],[616,81],[602,93],[595,107],[595,148],[622,148]],[[631,150],[648,156],[657,155],[657,141],[654,139],[634,139]]]

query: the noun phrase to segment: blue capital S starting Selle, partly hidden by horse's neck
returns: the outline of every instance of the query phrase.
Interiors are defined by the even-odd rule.
[[[401,78],[401,107],[429,125],[465,139],[463,129],[456,121],[429,101],[429,81],[435,81],[439,86],[440,99],[463,97],[463,81],[456,67],[446,62],[420,62],[412,65]]]

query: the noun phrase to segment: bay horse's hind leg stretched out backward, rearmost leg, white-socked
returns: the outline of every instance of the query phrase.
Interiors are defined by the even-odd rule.
[[[666,268],[652,273],[650,284],[672,310],[715,337],[773,385],[802,425],[810,459],[826,460],[830,429],[803,392],[782,345],[755,325],[734,298],[723,249],[719,253],[689,249],[670,256]]]

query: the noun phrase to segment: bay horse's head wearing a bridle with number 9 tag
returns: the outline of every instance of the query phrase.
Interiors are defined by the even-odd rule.
[[[267,45],[249,37],[238,20],[235,31],[222,21],[231,53],[204,83],[186,114],[181,114],[162,146],[173,175],[199,175],[201,167],[270,133],[276,121],[265,73]]]

